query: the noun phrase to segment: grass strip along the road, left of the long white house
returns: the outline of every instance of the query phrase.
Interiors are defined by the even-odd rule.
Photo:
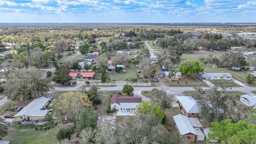
[[[204,82],[196,81],[194,78],[180,78],[179,81],[171,81],[169,78],[164,78],[163,83],[167,86],[207,86]]]

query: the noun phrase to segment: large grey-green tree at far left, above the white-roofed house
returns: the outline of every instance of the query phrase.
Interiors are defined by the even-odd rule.
[[[27,100],[42,97],[52,89],[49,79],[35,68],[19,69],[9,75],[4,84],[4,93],[11,100]]]

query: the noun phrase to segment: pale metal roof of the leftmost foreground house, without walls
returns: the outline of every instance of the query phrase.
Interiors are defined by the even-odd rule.
[[[19,113],[17,113],[14,117],[19,117],[24,115],[33,116],[33,117],[44,117],[47,115],[49,110],[43,110],[42,108],[49,101],[50,99],[45,97],[34,99],[26,107],[21,109]]]

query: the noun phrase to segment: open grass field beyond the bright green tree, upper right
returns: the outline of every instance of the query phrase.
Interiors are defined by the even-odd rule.
[[[213,57],[220,57],[220,55],[224,54],[223,52],[198,52],[198,53],[183,53],[181,55],[181,60],[197,60],[201,57],[207,57],[208,55],[213,54]]]

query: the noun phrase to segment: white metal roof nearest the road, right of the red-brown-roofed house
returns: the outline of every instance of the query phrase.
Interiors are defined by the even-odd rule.
[[[191,96],[177,96],[176,98],[179,100],[187,113],[199,113],[199,106],[197,105],[196,100]]]

